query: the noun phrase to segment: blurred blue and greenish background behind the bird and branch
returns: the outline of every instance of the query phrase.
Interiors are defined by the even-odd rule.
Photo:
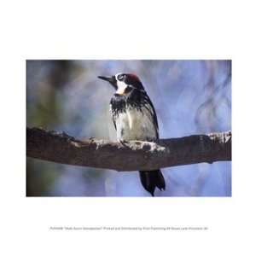
[[[160,137],[231,129],[231,61],[26,61],[26,125],[79,138],[116,140],[113,87],[98,75],[136,73],[148,92]],[[231,196],[231,162],[162,170],[155,196]],[[150,196],[137,172],[26,159],[27,196]]]

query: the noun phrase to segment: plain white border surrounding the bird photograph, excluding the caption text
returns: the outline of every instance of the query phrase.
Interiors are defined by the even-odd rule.
[[[9,1],[1,7],[3,255],[255,254],[253,1]],[[26,198],[26,59],[232,59],[231,198]],[[51,225],[207,225],[52,232]],[[254,253],[253,253],[254,252]]]

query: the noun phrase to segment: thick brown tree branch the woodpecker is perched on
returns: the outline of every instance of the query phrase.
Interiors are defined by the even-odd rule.
[[[168,166],[231,160],[231,131],[160,139],[157,143],[78,140],[65,132],[26,128],[26,155],[73,166],[118,171],[155,170]]]

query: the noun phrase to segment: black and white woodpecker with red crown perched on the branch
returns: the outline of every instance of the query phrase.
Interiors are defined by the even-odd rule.
[[[117,140],[154,142],[159,139],[157,116],[143,83],[133,73],[117,73],[110,77],[98,76],[113,86],[115,93],[110,100],[110,113]],[[166,189],[160,170],[139,171],[143,188],[154,196],[155,188]]]

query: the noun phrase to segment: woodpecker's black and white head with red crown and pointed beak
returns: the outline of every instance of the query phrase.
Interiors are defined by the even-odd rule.
[[[124,96],[134,89],[144,90],[140,79],[137,77],[137,75],[132,73],[117,73],[112,77],[99,76],[98,78],[112,84],[113,88],[116,90],[115,93],[120,96]]]

